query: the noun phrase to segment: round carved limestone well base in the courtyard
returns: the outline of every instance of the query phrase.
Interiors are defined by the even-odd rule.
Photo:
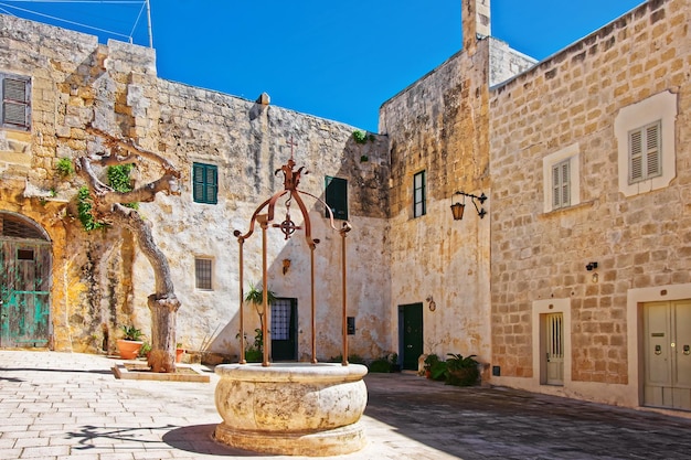
[[[359,422],[368,402],[360,364],[224,364],[216,409],[223,422],[214,437],[255,452],[339,456],[362,449]]]

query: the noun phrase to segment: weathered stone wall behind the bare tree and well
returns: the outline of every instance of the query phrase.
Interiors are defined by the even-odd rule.
[[[349,311],[358,331],[351,351],[376,357],[391,347],[387,322],[389,266],[384,249],[389,180],[384,137],[354,142],[353,127],[252,103],[237,97],[161,81],[153,50],[0,15],[0,72],[32,78],[32,129],[0,130],[0,210],[26,215],[44,227],[53,243],[51,290],[53,347],[114,351],[119,327],[150,330],[146,298],[152,270],[128,232],[86,233],[76,220],[75,176],[55,170],[62,158],[103,151],[85,127],[130,138],[169,159],[181,172],[181,196],[159,196],[140,204],[155,239],[169,257],[182,301],[178,340],[190,350],[237,355],[238,265],[234,229],[246,231],[255,207],[281,190],[274,171],[290,157],[295,139],[298,165],[311,171],[300,189],[323,199],[325,176],[349,183]],[[219,168],[219,203],[193,203],[192,162]],[[142,164],[137,182],[159,171]],[[306,199],[316,250],[320,359],[340,354],[340,238],[326,227],[325,208]],[[285,210],[277,211],[285,213]],[[297,206],[291,208],[297,217]],[[279,214],[279,217],[283,218]],[[298,222],[299,224],[299,222]],[[336,222],[340,225],[340,222]],[[269,288],[295,298],[299,308],[299,357],[309,353],[309,252],[299,234],[289,240],[269,235]],[[245,244],[245,281],[261,282],[261,236]],[[213,259],[213,290],[194,288],[194,258]],[[363,266],[362,260],[368,264]],[[284,260],[290,267],[283,274]],[[362,269],[364,267],[366,269]],[[245,286],[245,289],[247,286]],[[256,313],[247,312],[253,330]]]

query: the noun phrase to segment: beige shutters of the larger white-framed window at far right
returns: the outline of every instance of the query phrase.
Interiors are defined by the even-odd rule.
[[[629,184],[661,175],[660,121],[630,131],[628,151]]]

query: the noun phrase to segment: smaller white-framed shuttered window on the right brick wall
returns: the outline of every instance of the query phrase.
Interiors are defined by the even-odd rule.
[[[542,160],[545,213],[581,203],[580,157],[578,143],[574,143]]]

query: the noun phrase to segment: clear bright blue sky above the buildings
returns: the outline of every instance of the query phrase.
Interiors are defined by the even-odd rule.
[[[542,60],[642,0],[491,0],[492,35]],[[148,45],[141,0],[0,0],[0,13]],[[158,75],[378,130],[379,107],[461,49],[460,0],[151,0]],[[35,15],[30,10],[43,15]],[[66,20],[70,22],[63,22]],[[84,29],[87,24],[94,29]]]

